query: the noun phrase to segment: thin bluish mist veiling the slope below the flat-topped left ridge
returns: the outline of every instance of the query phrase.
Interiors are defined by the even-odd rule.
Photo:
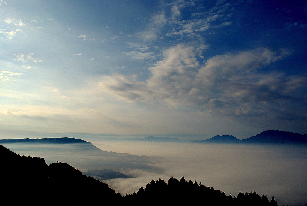
[[[81,171],[109,169],[120,171],[125,169],[141,169],[142,171],[161,172],[153,167],[149,157],[126,153],[102,151],[88,144],[2,144],[20,155],[44,157],[47,164],[65,162]]]

